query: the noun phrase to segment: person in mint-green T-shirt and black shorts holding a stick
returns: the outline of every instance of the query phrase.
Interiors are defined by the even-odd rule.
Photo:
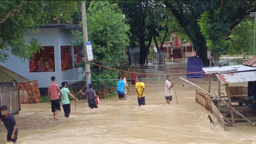
[[[76,99],[71,93],[69,93],[69,88],[67,88],[67,82],[62,82],[61,86],[62,88],[60,91],[65,97],[65,99],[61,99],[62,108],[65,114],[65,117],[69,117],[71,112],[69,97],[72,97],[73,99],[75,99],[75,101],[78,101],[78,99]]]

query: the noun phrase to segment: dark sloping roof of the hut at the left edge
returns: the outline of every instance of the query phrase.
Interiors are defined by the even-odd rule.
[[[19,75],[18,73],[14,73],[9,69],[0,65],[0,82],[11,82],[11,81],[28,81],[25,77]]]

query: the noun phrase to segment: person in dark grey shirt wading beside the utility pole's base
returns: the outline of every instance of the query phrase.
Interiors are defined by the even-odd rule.
[[[82,93],[82,95],[87,95],[88,104],[91,109],[97,108],[96,99],[95,97],[99,97],[99,95],[96,95],[96,92],[93,90],[93,84],[90,84],[90,89],[87,90],[85,93]]]

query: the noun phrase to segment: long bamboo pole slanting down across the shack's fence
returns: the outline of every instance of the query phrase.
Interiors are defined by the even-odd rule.
[[[233,108],[233,106],[229,106],[228,104],[226,104],[226,101],[224,101],[223,99],[221,99],[220,97],[218,97],[218,95],[213,95],[211,93],[208,93],[208,91],[205,91],[204,88],[201,88],[200,86],[189,82],[188,80],[185,80],[183,77],[180,77],[181,80],[184,80],[185,82],[188,82],[189,84],[192,84],[193,86],[196,86],[196,88],[199,88],[200,90],[204,91],[205,93],[207,93],[208,95],[210,95],[211,97],[213,97],[214,99],[220,100],[220,102],[226,106],[229,109],[232,109],[233,112],[235,112],[237,115],[240,115],[242,118],[244,118],[246,121],[248,121],[248,123],[251,123],[253,126],[255,126],[255,124],[250,121],[249,119],[247,119],[246,117],[244,117],[244,115],[242,115],[239,111],[235,110],[235,108]]]

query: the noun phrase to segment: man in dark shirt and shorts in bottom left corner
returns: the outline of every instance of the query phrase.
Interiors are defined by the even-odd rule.
[[[3,121],[7,132],[7,141],[12,143],[16,143],[18,139],[18,129],[16,125],[15,118],[8,113],[7,106],[1,107],[1,119],[0,123]]]

